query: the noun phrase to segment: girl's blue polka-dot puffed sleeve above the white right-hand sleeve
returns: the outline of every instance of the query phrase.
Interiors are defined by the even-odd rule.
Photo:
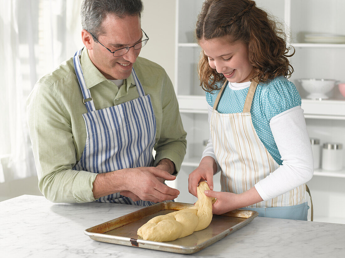
[[[260,103],[267,121],[272,117],[301,105],[296,86],[285,77],[277,77],[263,86]]]

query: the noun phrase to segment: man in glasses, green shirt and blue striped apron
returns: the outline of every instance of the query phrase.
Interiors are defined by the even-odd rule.
[[[180,168],[186,132],[165,70],[138,57],[148,41],[142,8],[84,0],[85,47],[28,97],[39,189],[50,201],[148,206],[179,194],[164,181]]]

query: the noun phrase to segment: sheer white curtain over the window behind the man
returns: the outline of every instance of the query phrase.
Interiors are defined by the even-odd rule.
[[[0,0],[0,183],[36,175],[26,99],[81,48],[81,0]]]

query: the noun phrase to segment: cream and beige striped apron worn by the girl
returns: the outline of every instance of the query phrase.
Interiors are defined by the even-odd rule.
[[[242,113],[220,114],[219,99],[227,81],[221,88],[213,106],[210,130],[214,153],[221,168],[221,191],[242,193],[270,173],[279,165],[258,137],[250,108],[257,83],[250,84]],[[307,201],[305,184],[268,201],[258,202],[246,208],[285,207]]]

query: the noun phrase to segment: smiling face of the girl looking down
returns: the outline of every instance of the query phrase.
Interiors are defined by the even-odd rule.
[[[254,69],[249,64],[247,46],[242,42],[229,43],[226,38],[204,39],[200,47],[208,57],[208,64],[223,74],[230,83],[249,82]]]

